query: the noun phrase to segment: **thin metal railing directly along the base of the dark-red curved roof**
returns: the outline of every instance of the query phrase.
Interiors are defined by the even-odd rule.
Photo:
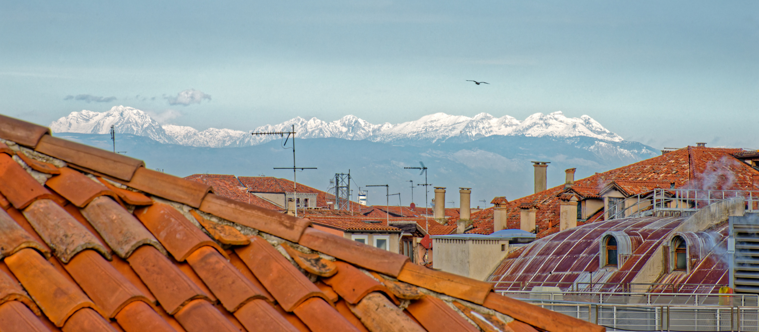
[[[596,282],[560,282],[560,281],[495,281],[498,289],[502,290],[527,290],[531,286],[556,286],[562,292],[579,292],[579,291],[606,291],[606,292],[633,292],[634,290],[649,292],[719,292],[720,287],[729,286],[726,284],[714,283],[596,283]]]

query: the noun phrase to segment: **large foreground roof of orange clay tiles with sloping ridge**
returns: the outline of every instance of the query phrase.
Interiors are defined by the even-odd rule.
[[[474,324],[604,330],[496,295],[490,283],[412,264],[404,255],[314,229],[308,220],[213,194],[211,185],[53,138],[39,125],[0,115],[0,138],[14,153],[152,203],[125,204],[118,193],[102,194],[106,185],[77,192],[91,186],[79,181],[48,189],[45,173],[0,153],[0,202],[8,202],[0,211],[4,330],[422,331],[441,324],[462,331],[477,330]],[[228,227],[209,232],[201,226],[208,223]],[[231,233],[244,234],[246,243],[219,245]],[[288,249],[278,250],[288,243],[300,252],[291,251],[293,261]],[[359,267],[371,280],[355,277]],[[403,290],[411,285],[433,292]],[[402,309],[397,299],[411,299],[410,305]],[[446,305],[451,301],[464,311]],[[484,315],[486,308],[507,316]]]

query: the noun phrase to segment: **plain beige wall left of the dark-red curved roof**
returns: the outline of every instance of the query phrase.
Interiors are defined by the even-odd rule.
[[[509,241],[433,239],[433,248],[433,268],[485,280],[509,253]]]

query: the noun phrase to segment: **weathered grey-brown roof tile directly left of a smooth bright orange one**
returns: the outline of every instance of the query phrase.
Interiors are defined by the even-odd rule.
[[[140,245],[153,245],[165,252],[153,234],[111,198],[95,198],[81,213],[121,258],[128,258]]]

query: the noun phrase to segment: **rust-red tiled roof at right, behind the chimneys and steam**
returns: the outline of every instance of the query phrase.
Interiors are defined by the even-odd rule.
[[[584,198],[597,197],[598,192],[611,182],[628,184],[630,191],[644,187],[696,188],[713,190],[759,190],[759,171],[746,163],[736,160],[733,155],[741,149],[715,147],[684,147],[679,150],[596,173],[575,181],[568,191],[575,191]],[[645,185],[644,185],[645,184]],[[508,210],[509,228],[519,228],[519,206],[534,204],[537,208],[535,223],[540,229],[538,238],[559,232],[559,198],[565,191],[564,185],[548,188],[536,194],[517,198],[505,204]],[[474,229],[469,232],[490,234],[493,232],[493,210],[486,209],[472,213]],[[590,221],[590,220],[588,220]],[[584,225],[578,221],[578,226]]]

